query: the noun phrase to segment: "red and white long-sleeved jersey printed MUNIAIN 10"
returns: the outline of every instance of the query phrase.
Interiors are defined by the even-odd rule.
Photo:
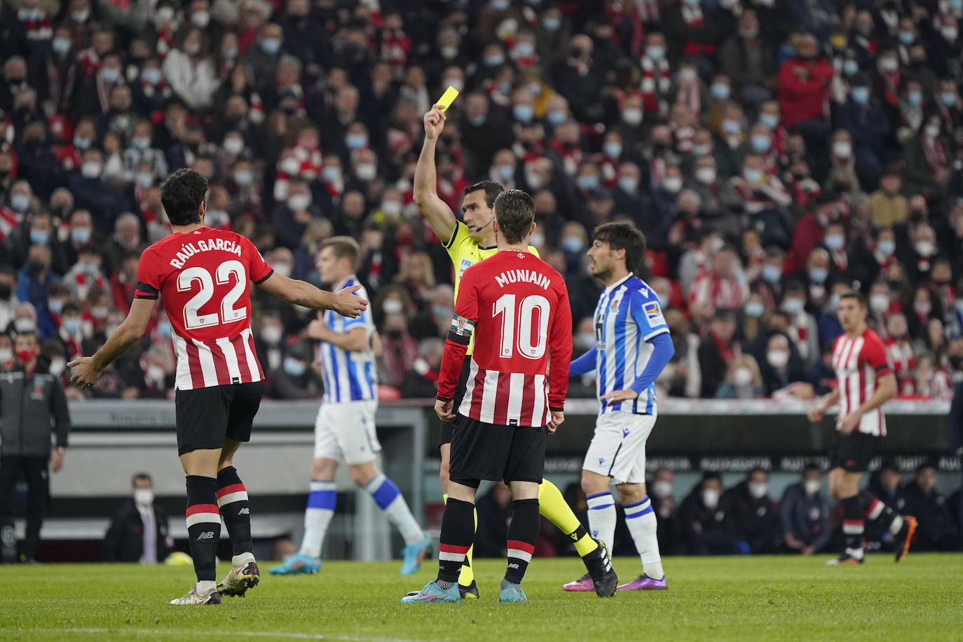
[[[455,412],[485,424],[542,426],[550,410],[564,409],[572,311],[558,271],[534,254],[516,251],[496,252],[465,270],[438,398],[455,397],[473,334],[468,383]]]

